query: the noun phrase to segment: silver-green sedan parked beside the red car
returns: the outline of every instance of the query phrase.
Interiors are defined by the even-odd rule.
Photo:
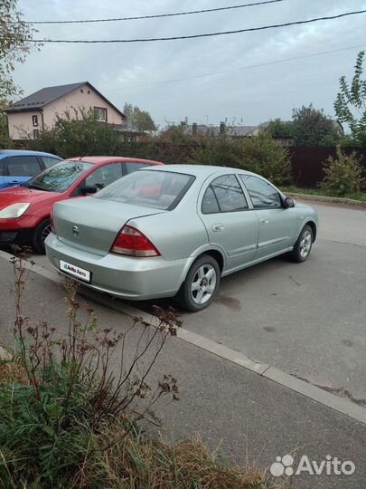
[[[235,168],[141,169],[92,197],[57,203],[45,242],[52,266],[129,300],[214,299],[221,277],[288,254],[305,262],[318,218],[265,178]]]

